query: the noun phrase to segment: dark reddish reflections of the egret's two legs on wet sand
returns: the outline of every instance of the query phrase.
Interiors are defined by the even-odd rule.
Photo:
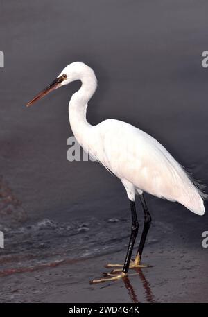
[[[137,275],[139,276],[139,278],[142,282],[142,285],[144,286],[144,291],[146,294],[147,302],[155,302],[153,292],[150,289],[150,284],[146,280],[146,277],[145,277],[144,273],[142,272],[141,268],[136,268],[135,271],[138,273]],[[123,282],[124,282],[125,288],[128,289],[128,293],[130,295],[130,299],[132,300],[132,302],[135,302],[135,303],[139,302],[139,300],[137,298],[137,294],[136,294],[135,289],[133,288],[133,286],[130,282],[129,277],[123,278]]]

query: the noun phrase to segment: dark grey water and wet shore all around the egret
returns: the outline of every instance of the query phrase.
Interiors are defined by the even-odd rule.
[[[208,49],[207,10],[205,0],[0,0],[0,50],[5,53],[0,189],[6,192],[6,199],[0,196],[0,229],[3,219],[8,227],[13,218],[26,215],[33,224],[6,231],[1,266],[17,265],[22,272],[33,266],[35,271],[1,280],[0,301],[130,300],[122,283],[112,292],[86,286],[110,256],[123,262],[130,211],[121,182],[100,164],[67,161],[68,102],[80,83],[58,89],[31,108],[25,105],[66,65],[81,60],[98,77],[87,112],[90,123],[115,118],[134,124],[208,183],[208,69],[201,64]],[[153,227],[144,261],[155,267],[144,270],[150,282],[132,280],[139,300],[153,301],[151,287],[156,301],[207,302],[207,249],[201,246],[207,214],[199,217],[152,196],[148,205]],[[92,216],[89,231],[83,232],[83,221]],[[117,220],[107,220],[113,217]],[[96,258],[83,269],[80,258],[90,255]],[[60,257],[80,264],[38,271],[40,264],[50,266]],[[14,291],[17,284],[21,290]]]

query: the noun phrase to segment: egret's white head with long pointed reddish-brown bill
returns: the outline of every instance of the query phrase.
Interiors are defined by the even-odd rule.
[[[87,65],[85,65],[83,62],[73,62],[67,67],[65,67],[62,72],[58,75],[53,82],[48,85],[42,92],[37,94],[28,104],[32,105],[35,103],[35,101],[40,100],[46,94],[49,94],[49,92],[52,92],[53,90],[62,87],[64,85],[68,85],[74,80],[85,80],[87,76],[89,77],[92,74],[94,76],[94,71]]]

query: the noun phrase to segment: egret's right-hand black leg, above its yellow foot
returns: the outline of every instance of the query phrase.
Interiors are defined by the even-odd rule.
[[[144,195],[143,194],[139,195],[139,198],[140,198],[141,205],[142,205],[142,208],[143,208],[143,211],[144,211],[144,228],[143,228],[143,231],[142,231],[142,234],[141,234],[141,240],[140,240],[139,248],[138,248],[138,251],[137,251],[137,259],[139,259],[139,262],[140,262],[142,251],[144,249],[144,243],[146,241],[146,236],[148,234],[148,230],[150,228],[150,224],[151,224],[151,220],[152,219],[151,219],[150,213],[148,211],[148,207],[146,205],[146,201],[144,199]]]

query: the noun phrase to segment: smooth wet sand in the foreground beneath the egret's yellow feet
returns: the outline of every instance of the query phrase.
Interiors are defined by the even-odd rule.
[[[175,253],[160,250],[156,255],[152,250],[144,260],[154,262],[153,267],[118,282],[92,286],[88,281],[106,271],[103,264],[121,262],[123,253],[14,273],[1,277],[1,302],[207,302],[207,266],[189,258],[200,253]]]

